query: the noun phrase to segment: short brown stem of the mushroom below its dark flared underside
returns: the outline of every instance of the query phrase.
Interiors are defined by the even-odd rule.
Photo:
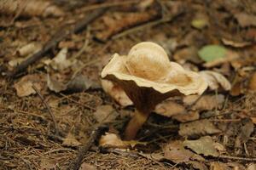
[[[131,118],[130,122],[125,128],[125,140],[135,139],[137,131],[147,121],[149,112],[135,111],[135,115]]]

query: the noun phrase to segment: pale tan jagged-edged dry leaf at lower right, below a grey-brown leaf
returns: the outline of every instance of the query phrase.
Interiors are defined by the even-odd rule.
[[[204,136],[197,140],[186,140],[183,142],[189,149],[204,156],[218,156],[218,151],[214,148],[214,142],[210,136]]]

